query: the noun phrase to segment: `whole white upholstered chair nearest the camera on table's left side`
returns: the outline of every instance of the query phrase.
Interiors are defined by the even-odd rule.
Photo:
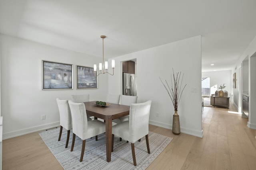
[[[84,157],[86,139],[105,133],[106,126],[104,122],[99,120],[87,121],[86,108],[84,103],[74,103],[69,100],[68,104],[70,106],[73,124],[73,139],[70,151],[73,151],[74,149],[76,136],[80,137],[83,141],[80,156],[80,162],[82,162]]]

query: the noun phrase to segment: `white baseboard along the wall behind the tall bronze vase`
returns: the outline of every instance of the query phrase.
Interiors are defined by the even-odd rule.
[[[158,122],[158,121],[149,120],[149,124],[150,125],[155,125],[155,126],[158,126],[158,127],[163,127],[163,128],[166,128],[166,129],[172,129],[172,125],[162,123],[162,122]],[[196,131],[196,130],[180,127],[180,132],[186,133],[188,135],[193,135],[193,136],[196,136],[196,137],[200,137],[200,138],[202,138],[204,136],[203,130],[202,131]]]

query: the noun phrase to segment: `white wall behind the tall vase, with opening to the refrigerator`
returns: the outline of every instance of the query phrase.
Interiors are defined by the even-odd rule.
[[[146,49],[136,53],[114,58],[114,76],[109,76],[108,92],[120,94],[122,91],[121,62],[137,60],[138,102],[152,100],[150,124],[172,128],[174,108],[159,76],[170,82],[170,73],[182,71],[187,84],[180,105],[180,127],[183,133],[202,137],[201,123],[201,36],[184,39],[174,43]],[[192,92],[196,89],[196,93]],[[159,117],[156,117],[159,113]]]

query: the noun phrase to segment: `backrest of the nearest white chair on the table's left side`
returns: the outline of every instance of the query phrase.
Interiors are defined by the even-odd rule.
[[[88,127],[85,105],[71,100],[68,100],[68,104],[72,115],[73,133],[82,139]]]

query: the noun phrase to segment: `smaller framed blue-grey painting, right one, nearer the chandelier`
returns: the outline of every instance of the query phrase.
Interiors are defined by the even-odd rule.
[[[97,84],[97,77],[94,75],[93,67],[76,66],[77,89],[98,88]]]

